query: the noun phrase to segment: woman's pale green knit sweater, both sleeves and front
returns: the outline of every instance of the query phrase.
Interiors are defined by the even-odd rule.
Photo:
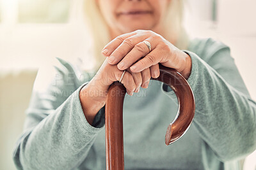
[[[256,103],[248,94],[230,48],[193,39],[188,82],[196,111],[182,138],[166,146],[166,127],[177,113],[170,87],[150,80],[124,101],[125,169],[239,169],[256,148]],[[88,124],[79,90],[94,74],[56,58],[36,76],[24,132],[13,151],[18,169],[106,169],[104,108]],[[147,139],[145,141],[145,139]]]

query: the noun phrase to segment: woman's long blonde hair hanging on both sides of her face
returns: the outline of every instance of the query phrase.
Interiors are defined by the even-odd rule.
[[[175,46],[180,50],[186,50],[188,46],[188,36],[183,27],[183,0],[171,0],[166,17],[163,20],[164,28],[168,35],[172,36]],[[86,22],[92,34],[93,45],[93,71],[97,71],[106,57],[102,56],[101,51],[105,45],[111,41],[106,21],[97,6],[95,0],[84,0],[84,12]],[[175,36],[173,36],[175,35]]]

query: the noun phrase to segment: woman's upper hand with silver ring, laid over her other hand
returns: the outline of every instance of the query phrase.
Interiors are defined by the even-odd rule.
[[[143,41],[151,44],[150,52]],[[118,69],[125,70],[130,67],[132,72],[141,72],[142,76],[143,71],[150,68],[150,75],[157,78],[158,63],[176,69],[186,79],[191,72],[189,55],[153,31],[138,30],[122,34],[109,42],[102,50],[102,54],[109,57],[109,64],[118,64]],[[143,80],[145,81],[149,80]]]

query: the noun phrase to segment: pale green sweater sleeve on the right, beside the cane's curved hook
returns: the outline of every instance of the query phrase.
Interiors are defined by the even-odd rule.
[[[199,57],[184,50],[192,60],[188,83],[196,103],[193,124],[222,162],[241,159],[256,149],[256,103],[228,46],[211,43],[203,51]],[[177,103],[170,87],[163,84],[162,90]]]

